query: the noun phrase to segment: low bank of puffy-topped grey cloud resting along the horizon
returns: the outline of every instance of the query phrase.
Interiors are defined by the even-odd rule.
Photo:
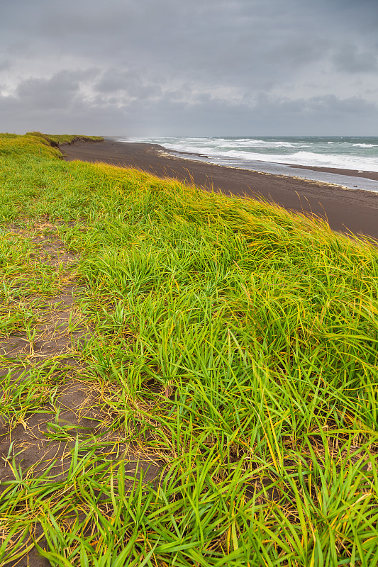
[[[97,97],[88,105],[77,90],[66,96],[68,103],[57,112],[55,104],[35,106],[33,99],[0,97],[0,120],[15,117],[9,131],[87,132],[108,135],[364,135],[378,121],[378,108],[358,97],[338,99],[333,95],[309,99],[286,99],[261,93],[255,104],[228,103],[201,95],[196,103],[180,101],[177,93],[160,97],[148,106],[143,99],[125,104]],[[33,108],[33,116],[30,109]],[[63,126],[62,126],[63,124]],[[27,128],[26,128],[27,125]]]

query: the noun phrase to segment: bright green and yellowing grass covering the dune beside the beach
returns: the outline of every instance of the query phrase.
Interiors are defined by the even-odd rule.
[[[375,565],[377,249],[59,155],[0,137],[0,563]],[[67,285],[68,346],[39,359]],[[69,383],[91,421],[60,419]],[[59,470],[23,458],[38,415]]]

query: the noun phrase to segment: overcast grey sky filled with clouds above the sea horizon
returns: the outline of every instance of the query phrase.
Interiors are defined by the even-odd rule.
[[[0,130],[378,135],[377,0],[1,0]]]

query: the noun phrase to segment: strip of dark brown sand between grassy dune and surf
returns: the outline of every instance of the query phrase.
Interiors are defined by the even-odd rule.
[[[65,145],[66,159],[106,162],[136,167],[159,177],[174,177],[226,195],[265,198],[289,210],[326,218],[333,230],[354,232],[378,240],[378,195],[372,191],[343,189],[296,177],[251,172],[167,155],[156,144],[106,140]],[[355,172],[337,170],[343,175]]]

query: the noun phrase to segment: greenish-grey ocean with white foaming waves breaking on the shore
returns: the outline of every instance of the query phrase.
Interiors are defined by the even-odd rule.
[[[374,179],[301,168],[377,173],[378,137],[118,137],[118,140],[159,144],[181,158],[378,192],[378,181]]]

